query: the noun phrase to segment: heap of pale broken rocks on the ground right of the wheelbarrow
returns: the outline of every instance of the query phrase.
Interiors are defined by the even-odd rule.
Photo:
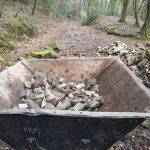
[[[101,56],[119,56],[120,59],[139,76],[145,86],[150,88],[150,50],[141,44],[128,48],[124,43],[117,41],[106,47],[99,47]]]

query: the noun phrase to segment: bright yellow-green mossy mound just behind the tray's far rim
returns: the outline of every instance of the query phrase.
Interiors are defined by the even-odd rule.
[[[41,50],[39,52],[32,51],[30,53],[27,53],[25,55],[27,58],[38,58],[38,59],[44,59],[44,58],[57,58],[57,53],[55,50],[52,49],[52,47],[48,49]]]

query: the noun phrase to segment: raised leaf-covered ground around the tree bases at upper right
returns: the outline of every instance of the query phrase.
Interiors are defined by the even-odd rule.
[[[114,16],[101,16],[98,19],[98,28],[102,31],[107,32],[110,35],[117,35],[122,37],[137,36],[140,32],[143,21],[140,20],[140,27],[135,25],[133,17],[127,17],[125,23],[119,22],[119,17]]]

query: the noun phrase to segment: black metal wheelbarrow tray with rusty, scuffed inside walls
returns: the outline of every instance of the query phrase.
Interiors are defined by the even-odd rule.
[[[101,112],[11,109],[35,71],[68,81],[96,78]],[[17,150],[105,150],[150,113],[150,90],[118,59],[24,60],[0,73],[0,138]]]

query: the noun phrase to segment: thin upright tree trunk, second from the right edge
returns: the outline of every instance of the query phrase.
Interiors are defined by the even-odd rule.
[[[138,1],[134,0],[134,15],[135,15],[135,26],[140,27],[139,13],[138,13]]]

